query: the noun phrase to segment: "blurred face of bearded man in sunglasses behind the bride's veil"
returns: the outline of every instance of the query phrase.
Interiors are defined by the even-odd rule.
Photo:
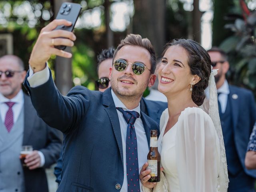
[[[215,78],[215,82],[216,84],[219,82],[219,81],[224,81],[225,79],[225,74],[226,72],[228,71],[228,68],[229,68],[229,64],[227,61],[225,61],[221,54],[219,52],[208,52],[210,58],[211,58],[211,62],[216,64],[215,66],[212,66],[213,69],[218,69],[218,74],[216,74],[214,76]]]

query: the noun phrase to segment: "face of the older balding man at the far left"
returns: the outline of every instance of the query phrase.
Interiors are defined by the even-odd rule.
[[[11,99],[20,91],[26,72],[21,70],[19,64],[14,58],[8,57],[0,59],[0,71],[14,72],[14,76],[12,77],[7,77],[5,73],[2,73],[0,77],[0,93],[6,98]]]

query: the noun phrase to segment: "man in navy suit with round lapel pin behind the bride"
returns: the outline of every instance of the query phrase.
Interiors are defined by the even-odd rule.
[[[208,50],[218,92],[218,105],[228,164],[228,192],[254,192],[256,170],[247,170],[244,158],[256,120],[254,96],[250,90],[228,84],[228,56],[216,47]]]

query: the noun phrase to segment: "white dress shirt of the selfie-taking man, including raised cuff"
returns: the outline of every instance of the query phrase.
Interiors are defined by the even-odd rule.
[[[46,66],[46,68],[44,68],[44,70],[42,70],[40,72],[36,72],[35,74],[33,74],[33,72],[31,72],[31,71],[32,70],[30,68],[28,82],[31,87],[36,87],[36,86],[40,86],[40,85],[44,84],[45,82],[48,81],[48,79],[50,77],[49,68],[47,66]],[[37,74],[37,76],[36,76],[36,74]],[[113,90],[111,90],[111,94],[112,94],[114,104],[116,107],[120,107],[120,108],[123,108],[124,110],[128,110],[126,108],[126,106],[120,101],[120,99],[114,94]],[[119,119],[120,128],[121,128],[123,158],[124,158],[124,162],[123,162],[124,163],[124,182],[122,184],[122,188],[121,188],[120,192],[127,192],[127,190],[128,190],[128,182],[127,182],[127,174],[126,174],[127,123],[124,120],[122,112],[120,112],[118,110],[116,110],[116,111],[118,114],[118,119]],[[138,107],[136,107],[130,111],[136,111],[140,114],[140,104],[138,105]],[[141,118],[136,119],[136,121],[134,123],[134,127],[136,129],[137,146],[138,146],[138,166],[139,166],[139,171],[140,171],[142,166],[144,165],[144,163],[147,162],[147,155],[148,155],[148,151],[149,151],[148,140],[146,137],[146,132],[144,130],[144,126],[143,126]],[[142,191],[141,182],[140,182],[140,191]]]

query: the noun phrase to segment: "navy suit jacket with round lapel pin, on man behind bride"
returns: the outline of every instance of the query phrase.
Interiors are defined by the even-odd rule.
[[[240,162],[246,174],[256,178],[256,170],[247,170],[244,158],[252,128],[256,121],[256,105],[251,91],[236,86],[229,86],[232,120],[234,127],[234,141]],[[235,96],[237,95],[237,97]],[[224,138],[225,139],[225,138]]]

